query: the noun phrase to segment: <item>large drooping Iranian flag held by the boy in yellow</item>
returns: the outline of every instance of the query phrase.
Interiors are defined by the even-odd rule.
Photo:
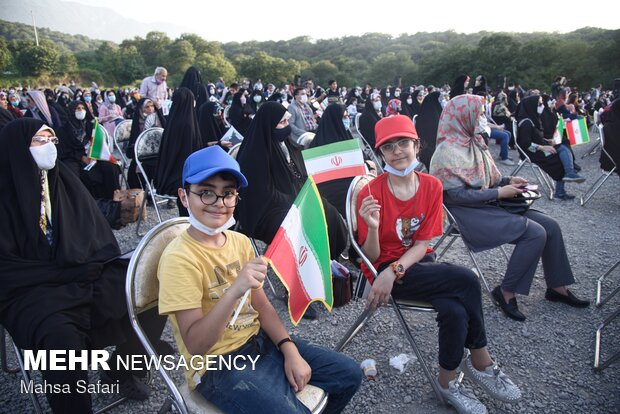
[[[321,196],[308,178],[264,256],[288,290],[291,321],[297,325],[315,301],[331,311],[332,273]]]

